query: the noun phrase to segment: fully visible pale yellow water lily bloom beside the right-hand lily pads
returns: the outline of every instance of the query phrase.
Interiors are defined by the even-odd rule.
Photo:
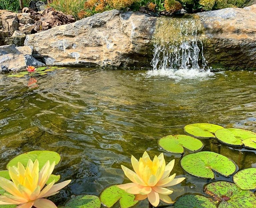
[[[131,161],[135,172],[123,165],[121,167],[124,174],[133,183],[118,185],[120,189],[135,194],[136,200],[148,198],[155,207],[159,205],[160,199],[168,204],[174,203],[168,196],[173,191],[165,187],[174,186],[185,179],[175,178],[176,174],[169,176],[174,166],[174,160],[166,165],[163,153],[158,157],[155,156],[152,161],[148,153],[144,152],[139,161],[134,156]]]

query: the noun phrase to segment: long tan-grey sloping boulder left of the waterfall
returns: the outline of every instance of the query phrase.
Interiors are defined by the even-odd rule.
[[[103,12],[28,35],[47,65],[149,66],[156,18],[139,12]]]

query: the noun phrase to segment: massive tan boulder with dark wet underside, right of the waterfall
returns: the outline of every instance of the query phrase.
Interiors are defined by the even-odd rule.
[[[198,15],[205,27],[204,55],[210,66],[256,68],[256,4]]]

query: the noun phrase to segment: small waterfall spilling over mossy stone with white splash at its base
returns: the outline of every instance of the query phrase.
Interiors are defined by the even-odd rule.
[[[193,18],[160,18],[148,76],[203,78],[213,75],[203,55],[202,26]]]

